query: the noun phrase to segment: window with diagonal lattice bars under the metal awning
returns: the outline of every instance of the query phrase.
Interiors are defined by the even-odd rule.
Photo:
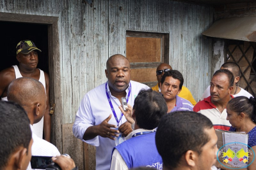
[[[256,94],[256,43],[249,41],[227,40],[225,62],[236,62],[241,68],[239,87],[247,90],[255,97]]]

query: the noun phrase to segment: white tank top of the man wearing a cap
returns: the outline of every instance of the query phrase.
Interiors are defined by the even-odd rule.
[[[20,74],[19,71],[19,67],[17,65],[13,66],[14,71],[15,71],[15,78],[20,78],[22,77],[22,75]],[[45,77],[44,77],[44,71],[40,70],[40,78],[38,81],[40,81],[43,85],[44,85],[44,89],[45,89]],[[46,93],[46,89],[45,89],[45,93]],[[7,101],[7,97],[3,97],[2,101]],[[36,136],[38,136],[39,138],[43,138],[43,129],[44,129],[44,117],[42,117],[42,119],[36,123],[33,124],[33,129],[35,130],[35,134]]]

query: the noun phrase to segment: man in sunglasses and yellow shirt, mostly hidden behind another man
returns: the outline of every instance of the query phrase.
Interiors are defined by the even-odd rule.
[[[166,71],[170,71],[170,70],[172,70],[172,67],[166,63],[162,63],[157,67],[156,78],[157,78],[158,83],[156,86],[152,87],[152,90],[154,90],[156,92],[161,92],[161,89],[159,87],[160,87],[160,83],[161,83],[163,74]],[[193,104],[193,106],[196,105],[196,101],[187,87],[182,86],[182,90],[180,91],[180,94],[178,96],[190,101],[190,103]]]

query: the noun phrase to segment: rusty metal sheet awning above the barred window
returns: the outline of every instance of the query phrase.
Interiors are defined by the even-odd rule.
[[[215,38],[256,42],[256,16],[217,20],[202,34]]]

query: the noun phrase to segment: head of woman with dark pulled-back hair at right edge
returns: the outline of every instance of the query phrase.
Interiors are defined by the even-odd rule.
[[[255,104],[256,99],[253,97],[248,99],[239,96],[231,99],[227,104],[227,120],[229,120],[232,127],[239,126],[242,120],[246,120],[246,118],[256,122]]]

